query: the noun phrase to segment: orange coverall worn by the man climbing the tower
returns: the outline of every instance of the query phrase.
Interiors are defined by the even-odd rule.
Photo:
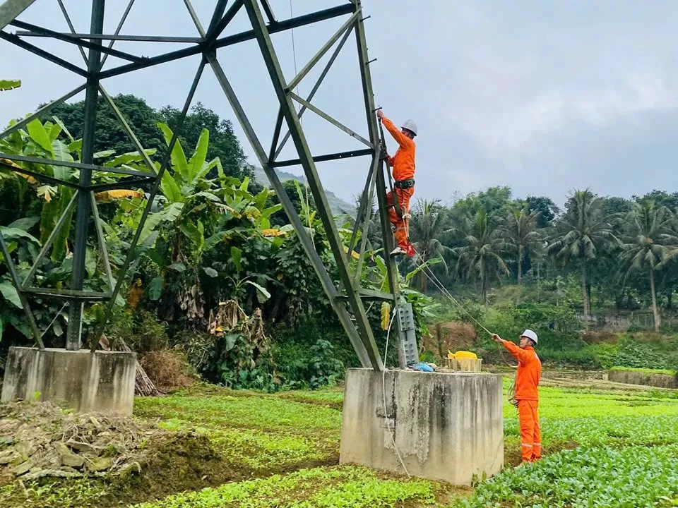
[[[415,141],[408,138],[403,134],[400,129],[398,129],[391,120],[384,117],[381,119],[383,126],[388,129],[388,132],[391,133],[393,139],[398,142],[398,151],[393,157],[388,157],[388,164],[393,168],[393,179],[396,181],[402,181],[414,178],[415,176],[415,150],[416,145]],[[410,210],[410,198],[415,193],[415,188],[410,187],[408,189],[393,188],[393,191],[396,193],[396,199],[398,199],[398,205],[400,206],[400,213],[403,215],[408,213]],[[391,220],[391,224],[396,226],[396,243],[403,250],[408,248],[408,226],[405,224],[405,220],[398,217],[396,214],[396,207],[393,206],[393,194],[388,192],[386,194],[386,202],[390,207],[388,210],[388,217]]]

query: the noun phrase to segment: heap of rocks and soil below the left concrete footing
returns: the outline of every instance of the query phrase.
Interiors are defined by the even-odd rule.
[[[162,432],[133,418],[78,415],[49,402],[5,404],[0,406],[0,478],[140,471],[143,442]]]

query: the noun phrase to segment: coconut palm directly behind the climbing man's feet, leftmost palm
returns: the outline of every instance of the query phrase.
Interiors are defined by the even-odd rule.
[[[440,239],[445,234],[444,209],[440,200],[418,200],[412,208],[410,217],[410,241],[420,255],[420,261],[424,262],[432,258],[439,258],[444,271],[447,273],[448,265],[445,256],[452,252],[451,248],[444,246]],[[417,275],[419,289],[425,292],[428,279],[424,272]]]

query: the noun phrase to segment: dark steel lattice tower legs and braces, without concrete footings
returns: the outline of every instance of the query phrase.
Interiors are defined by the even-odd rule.
[[[187,11],[186,15],[191,17],[196,27],[196,37],[120,35],[120,30],[125,22],[126,16],[133,7],[134,0],[130,0],[129,6],[126,8],[124,16],[120,20],[116,32],[109,35],[103,33],[105,20],[105,0],[91,0],[91,22],[90,32],[88,33],[76,32],[61,0],[57,1],[59,1],[61,10],[64,13],[66,21],[69,23],[71,32],[55,32],[54,30],[48,30],[47,28],[42,28],[40,26],[18,20],[18,17],[21,15],[21,13],[23,13],[26,8],[31,6],[31,4],[34,4],[36,1],[47,0],[5,0],[0,4],[0,39],[4,40],[5,44],[14,44],[28,52],[37,54],[47,61],[56,63],[58,66],[66,68],[69,71],[80,75],[83,78],[84,83],[63,97],[60,97],[59,99],[54,100],[53,102],[50,102],[49,104],[40,108],[35,112],[35,114],[32,114],[18,123],[15,123],[13,126],[0,133],[0,138],[4,138],[7,135],[18,131],[18,129],[25,127],[33,119],[37,119],[40,116],[47,114],[58,104],[71,99],[71,97],[83,92],[83,90],[85,91],[85,116],[81,162],[61,162],[51,159],[41,159],[39,157],[27,157],[0,153],[0,159],[9,159],[14,163],[6,164],[0,161],[0,164],[3,164],[6,169],[17,171],[18,173],[24,174],[26,176],[32,176],[40,182],[52,183],[53,185],[58,184],[70,186],[75,190],[73,199],[71,200],[69,206],[57,222],[57,226],[54,228],[54,231],[52,231],[52,234],[49,236],[46,243],[44,243],[40,254],[35,260],[35,264],[28,273],[28,276],[24,277],[23,280],[20,279],[16,265],[13,263],[13,260],[9,255],[6,241],[0,234],[0,248],[2,253],[4,253],[4,258],[7,262],[9,272],[11,273],[13,284],[16,286],[21,302],[23,303],[26,319],[28,320],[30,328],[32,329],[32,333],[35,336],[37,346],[40,349],[44,348],[40,329],[38,329],[37,323],[30,309],[29,298],[31,296],[39,296],[42,298],[60,298],[65,299],[69,303],[69,327],[66,332],[66,349],[68,350],[81,349],[83,305],[85,302],[107,302],[106,319],[108,319],[110,316],[114,306],[114,301],[119,294],[121,286],[126,281],[126,277],[131,276],[131,274],[129,274],[129,267],[133,260],[133,254],[136,246],[138,245],[141,231],[146,219],[148,218],[148,214],[150,213],[151,205],[153,204],[153,200],[159,189],[162,175],[165,173],[165,171],[167,171],[172,148],[177,142],[177,138],[182,133],[184,119],[186,118],[186,115],[188,114],[191,107],[191,102],[194,99],[198,83],[201,80],[203,71],[209,66],[217,78],[225,97],[230,103],[237,121],[239,122],[240,126],[242,126],[246,138],[256,154],[257,162],[261,164],[261,167],[266,172],[273,190],[278,195],[287,217],[290,219],[292,226],[294,226],[295,232],[309,257],[309,260],[311,260],[311,264],[313,265],[323,289],[326,292],[329,301],[331,302],[331,306],[338,315],[338,318],[345,329],[345,332],[353,347],[355,348],[362,365],[364,367],[374,368],[375,370],[382,370],[383,362],[376,347],[374,334],[367,319],[364,301],[388,301],[391,302],[393,306],[400,306],[401,300],[400,295],[398,294],[398,272],[396,263],[391,258],[389,258],[388,255],[385,255],[385,258],[386,265],[388,267],[388,287],[390,292],[386,293],[369,291],[367,289],[362,289],[359,285],[360,271],[362,268],[362,263],[364,263],[364,238],[367,237],[367,228],[369,226],[369,208],[371,207],[371,202],[375,193],[379,203],[385,253],[390,252],[393,248],[393,234],[391,231],[391,224],[388,221],[388,211],[386,205],[386,179],[390,179],[391,176],[383,160],[385,156],[385,148],[381,143],[379,124],[375,116],[376,107],[374,104],[374,94],[372,92],[369,68],[369,64],[371,62],[367,54],[367,42],[364,28],[364,20],[366,18],[364,18],[362,14],[361,1],[343,0],[340,1],[338,6],[332,8],[326,8],[324,10],[309,13],[304,16],[278,20],[275,18],[273,9],[271,8],[268,0],[215,0],[213,16],[207,28],[204,28],[200,19],[196,15],[194,7],[191,5],[191,1],[184,0],[184,7]],[[180,4],[181,2],[177,0],[176,3]],[[174,2],[169,1],[167,4],[174,4]],[[224,32],[225,28],[241,9],[246,11],[249,23],[251,23],[251,30],[239,32],[234,35],[223,36],[222,33]],[[284,32],[286,30],[293,30],[304,25],[311,25],[313,23],[319,23],[323,20],[340,17],[345,18],[345,23],[343,23],[341,28],[337,32],[333,33],[331,37],[329,37],[326,44],[323,44],[319,51],[309,60],[302,70],[297,73],[295,78],[287,82],[278,61],[275,47],[271,41],[271,34]],[[19,30],[16,32],[11,32],[10,27]],[[337,58],[338,54],[340,54],[343,47],[345,46],[345,43],[347,40],[349,40],[351,35],[355,37],[357,49],[356,64],[359,66],[362,81],[363,104],[359,107],[364,108],[365,122],[368,133],[367,138],[363,138],[362,136],[358,135],[355,131],[343,125],[343,123],[335,120],[325,111],[322,111],[311,103],[311,100],[316,94],[316,91],[319,89],[323,79],[326,77],[335,59]],[[77,66],[74,63],[61,59],[59,56],[35,46],[31,42],[28,42],[31,37],[49,37],[52,40],[75,44],[81,51],[85,66]],[[170,43],[190,42],[191,46],[172,52],[163,53],[158,56],[142,57],[114,49],[114,42],[118,40]],[[270,78],[270,83],[273,85],[273,89],[275,90],[275,95],[279,104],[278,118],[275,123],[273,141],[270,145],[270,150],[268,151],[262,145],[259,135],[256,133],[252,123],[246,116],[242,104],[235,94],[230,81],[217,58],[218,49],[233,46],[234,48],[230,49],[236,50],[235,47],[237,47],[237,44],[249,40],[256,40],[258,44],[258,48],[261,51],[263,60],[266,63],[266,71],[268,73],[268,77]],[[104,42],[108,42],[108,44],[104,44]],[[299,95],[293,92],[296,85],[302,79],[304,79],[309,71],[311,71],[311,69],[314,68],[314,66],[316,66],[316,64],[321,61],[323,56],[331,51],[331,49],[333,49],[331,58],[323,69],[319,79],[312,87],[310,94],[306,98],[299,97]],[[121,114],[121,111],[115,104],[114,99],[112,99],[112,97],[107,93],[102,83],[107,78],[112,78],[114,76],[123,75],[126,73],[133,73],[134,71],[151,68],[161,63],[167,63],[194,55],[201,55],[201,62],[198,66],[195,78],[184,102],[184,107],[182,109],[182,114],[179,117],[178,124],[174,128],[174,135],[172,140],[169,142],[167,155],[165,155],[164,159],[162,160],[160,169],[156,170],[155,165],[150,160],[148,155],[145,155],[144,147],[133,133],[128,121],[126,121],[124,115]],[[129,63],[104,68],[103,64],[105,63],[107,56],[114,56],[117,59],[124,59]],[[105,99],[105,102],[109,104],[133,145],[141,153],[141,155],[144,156],[145,165],[148,167],[148,171],[102,167],[95,164],[94,136],[95,128],[97,126],[97,100],[99,97]],[[295,109],[295,103],[301,106],[301,109],[298,113]],[[323,155],[312,155],[311,150],[309,150],[309,144],[307,143],[307,136],[304,133],[304,128],[302,127],[302,123],[299,121],[300,116],[302,116],[304,111],[307,109],[310,109],[326,121],[340,128],[342,131],[347,133],[347,135],[359,140],[365,145],[364,149],[347,150]],[[287,126],[287,134],[281,138],[283,125]],[[279,161],[278,155],[280,155],[280,151],[283,150],[283,145],[285,145],[287,140],[290,138],[294,143],[298,158]],[[333,220],[326,193],[319,179],[318,172],[316,171],[316,162],[329,161],[333,159],[344,159],[347,157],[364,157],[369,159],[369,166],[366,164],[367,179],[362,190],[360,206],[357,212],[355,231],[353,231],[352,234],[348,255],[345,253],[343,244],[340,241],[338,228]],[[52,166],[61,166],[78,170],[80,171],[79,181],[78,183],[73,183],[57,179],[54,176],[42,174],[39,171],[33,171],[31,169],[31,164],[51,164]],[[340,282],[338,285],[333,282],[330,275],[326,271],[321,258],[319,257],[318,253],[316,253],[311,236],[309,236],[309,233],[304,228],[299,215],[295,211],[295,207],[292,205],[290,198],[288,198],[287,194],[285,193],[283,186],[280,183],[280,179],[275,172],[276,167],[292,165],[300,165],[304,170],[309,189],[316,202],[319,217],[326,230],[331,251],[337,263],[338,273],[340,276]],[[95,171],[117,173],[133,178],[126,179],[125,181],[119,181],[117,183],[93,185],[92,174]],[[150,184],[150,195],[148,196],[147,204],[143,210],[141,223],[139,224],[138,229],[133,236],[133,241],[131,242],[126,260],[119,268],[117,276],[113,277],[108,260],[106,243],[100,225],[100,219],[97,211],[97,202],[94,198],[94,193],[110,190],[113,188],[138,188],[138,186],[141,184]],[[76,226],[75,242],[73,244],[73,275],[70,289],[50,289],[32,286],[32,279],[35,277],[35,272],[38,270],[42,264],[42,261],[44,260],[44,256],[51,248],[59,229],[64,226],[66,220],[70,219],[71,212],[73,211],[75,211],[76,214]],[[88,226],[90,220],[95,222],[95,229],[98,236],[97,240],[100,247],[99,255],[100,258],[102,258],[107,274],[107,280],[109,281],[109,291],[105,293],[83,291],[83,282],[85,280],[85,248],[88,239]],[[348,258],[353,252],[354,248],[356,248],[358,231],[362,231],[363,240],[362,248],[359,249],[360,254],[359,262],[357,263],[357,270],[354,271],[350,267]],[[103,332],[103,326],[103,324],[100,325],[100,327],[98,327],[98,329],[95,331],[95,334],[93,334],[93,339],[91,341],[92,351],[95,350],[98,344],[98,339],[101,337]],[[401,366],[405,365],[405,352],[403,349],[405,336],[408,335],[411,337],[411,334],[413,333],[411,329],[406,331],[404,328],[407,328],[407,325],[403,324],[403,320],[396,320],[396,329],[398,329],[401,339],[398,341],[400,344],[399,357]]]

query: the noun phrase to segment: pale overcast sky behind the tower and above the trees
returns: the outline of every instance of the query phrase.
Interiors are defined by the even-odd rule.
[[[0,0],[1,1],[1,0]],[[344,0],[293,0],[295,16]],[[107,1],[105,32],[113,32],[126,0]],[[204,25],[215,2],[194,0]],[[270,0],[278,18],[289,0]],[[65,0],[76,30],[87,31],[83,0]],[[162,4],[162,9],[157,6]],[[414,119],[415,198],[439,198],[508,185],[516,197],[549,195],[557,203],[573,188],[597,193],[678,190],[678,8],[673,1],[365,0],[376,101],[396,122]],[[56,0],[37,0],[21,20],[67,30]],[[295,30],[302,68],[346,18]],[[244,12],[226,34],[247,29]],[[8,27],[8,31],[15,28]],[[124,34],[196,35],[182,0],[137,0]],[[36,44],[82,63],[69,44]],[[273,39],[289,80],[295,75],[289,32]],[[71,90],[82,78],[0,42],[1,78],[20,78],[0,95],[0,123],[33,111]],[[169,44],[119,42],[153,55]],[[178,47],[176,47],[178,48]],[[254,42],[218,54],[246,113],[268,150],[278,112]],[[78,60],[80,59],[80,60]],[[299,86],[307,95],[322,64]],[[107,80],[109,93],[133,93],[153,107],[181,107],[199,59],[168,63]],[[106,68],[121,61],[110,58]],[[83,95],[78,96],[81,99]],[[250,161],[254,152],[211,71],[196,100],[232,119]],[[316,99],[321,109],[367,137],[355,40],[350,39]],[[304,116],[314,154],[361,145],[312,112]],[[291,147],[280,156],[295,157]],[[395,148],[393,140],[389,147]],[[342,198],[359,192],[367,159],[319,164],[323,184]],[[288,168],[300,173],[300,168]]]

